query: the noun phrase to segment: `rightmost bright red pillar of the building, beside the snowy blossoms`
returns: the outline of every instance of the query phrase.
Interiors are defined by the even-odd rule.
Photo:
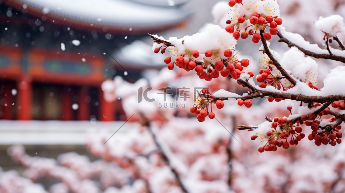
[[[99,120],[113,121],[114,119],[114,103],[104,99],[104,92],[99,88]]]

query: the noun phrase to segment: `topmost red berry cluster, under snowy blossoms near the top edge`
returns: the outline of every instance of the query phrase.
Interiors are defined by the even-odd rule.
[[[229,6],[233,7],[235,6],[236,3],[242,3],[242,0],[230,0],[229,1]],[[270,40],[272,35],[277,35],[278,33],[278,28],[277,25],[280,25],[283,23],[283,20],[281,18],[278,18],[277,16],[272,17],[272,16],[265,16],[264,14],[259,14],[258,12],[254,12],[250,15],[249,22],[252,25],[249,25],[245,28],[245,30],[240,34],[239,30],[237,29],[235,31],[235,26],[238,26],[239,23],[245,22],[246,19],[244,16],[240,16],[237,18],[237,22],[228,25],[225,27],[225,30],[229,33],[233,33],[233,36],[236,40],[241,37],[242,39],[247,39],[248,35],[253,35],[252,41],[254,43],[258,43],[261,39],[261,35],[257,33],[257,30],[264,30],[264,39],[265,40]],[[231,24],[231,20],[227,20],[226,24]],[[269,24],[269,25],[268,25]],[[250,26],[256,25],[254,30],[250,29],[247,32],[247,28]],[[269,32],[266,32],[266,27],[269,27]],[[272,34],[272,35],[271,35]]]

